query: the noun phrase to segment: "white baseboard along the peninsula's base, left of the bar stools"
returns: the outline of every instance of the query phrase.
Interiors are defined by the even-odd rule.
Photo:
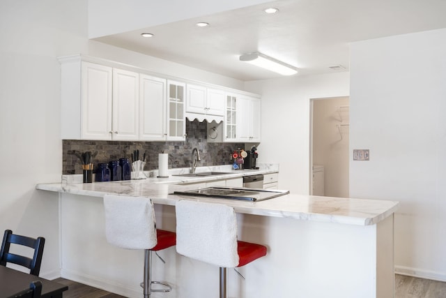
[[[86,274],[81,274],[79,272],[70,271],[62,269],[61,276],[63,278],[69,279],[70,281],[76,281],[77,283],[83,283],[84,285],[89,285],[94,288],[99,288],[101,290],[106,290],[107,292],[113,292],[115,294],[129,297],[129,298],[139,298],[142,295],[142,288],[128,288],[127,285],[117,284],[115,281],[105,281],[95,278],[93,276],[88,276]],[[142,279],[141,279],[142,281]]]

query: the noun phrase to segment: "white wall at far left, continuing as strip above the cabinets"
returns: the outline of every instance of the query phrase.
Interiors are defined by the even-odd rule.
[[[40,275],[59,276],[58,195],[36,191],[62,171],[61,67],[90,54],[226,87],[243,82],[88,40],[87,0],[0,1],[0,233],[46,238]]]

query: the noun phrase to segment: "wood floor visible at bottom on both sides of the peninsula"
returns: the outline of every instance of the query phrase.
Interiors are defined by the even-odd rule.
[[[58,283],[68,285],[63,298],[118,298],[120,295],[92,288],[82,283],[57,278]],[[429,279],[395,275],[395,298],[441,298],[446,297],[446,283]]]

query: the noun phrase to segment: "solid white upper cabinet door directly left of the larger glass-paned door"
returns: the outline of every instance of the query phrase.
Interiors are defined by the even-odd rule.
[[[139,75],[139,140],[166,140],[166,80]]]

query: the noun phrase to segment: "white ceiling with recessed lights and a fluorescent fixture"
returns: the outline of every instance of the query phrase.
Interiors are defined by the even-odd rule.
[[[264,13],[270,6],[279,13]],[[329,68],[335,65],[346,71],[352,42],[442,28],[446,0],[283,0],[95,40],[247,81],[280,75],[239,61],[240,54],[262,52],[298,67],[298,75],[339,71]]]

